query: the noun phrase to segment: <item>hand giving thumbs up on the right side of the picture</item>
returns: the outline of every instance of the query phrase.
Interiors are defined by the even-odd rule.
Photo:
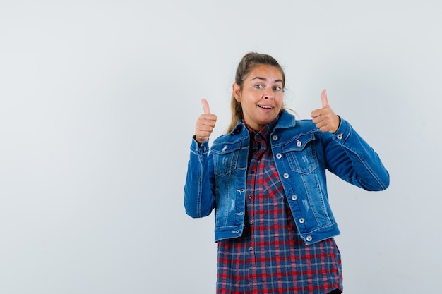
[[[335,133],[339,128],[340,118],[328,104],[327,90],[321,93],[322,108],[311,112],[313,123],[321,132]]]

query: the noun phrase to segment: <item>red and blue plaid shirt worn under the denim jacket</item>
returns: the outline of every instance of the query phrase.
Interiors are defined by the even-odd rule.
[[[259,133],[249,128],[246,227],[241,237],[218,242],[217,293],[325,294],[342,290],[335,240],[305,245],[297,232],[270,149],[269,136],[276,122]]]

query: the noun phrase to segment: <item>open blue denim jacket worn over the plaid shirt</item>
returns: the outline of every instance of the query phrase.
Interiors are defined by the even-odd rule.
[[[192,217],[215,209],[215,241],[241,236],[244,228],[249,130],[239,122],[212,147],[193,139],[184,186],[184,207]],[[341,118],[335,133],[283,111],[270,145],[299,235],[306,244],[340,233],[328,203],[325,170],[370,191],[385,190],[390,177],[350,123]]]

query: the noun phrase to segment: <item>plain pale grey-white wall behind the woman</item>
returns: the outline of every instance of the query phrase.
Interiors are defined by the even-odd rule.
[[[213,215],[184,213],[194,123],[274,56],[286,104],[328,101],[390,188],[329,175],[345,293],[437,293],[439,1],[0,1],[0,293],[215,293]]]

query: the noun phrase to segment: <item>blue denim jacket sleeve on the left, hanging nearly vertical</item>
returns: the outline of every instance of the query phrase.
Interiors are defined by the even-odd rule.
[[[208,216],[214,207],[215,196],[212,192],[213,164],[209,158],[208,142],[198,146],[195,139],[191,143],[186,184],[184,185],[184,208],[193,218]]]

